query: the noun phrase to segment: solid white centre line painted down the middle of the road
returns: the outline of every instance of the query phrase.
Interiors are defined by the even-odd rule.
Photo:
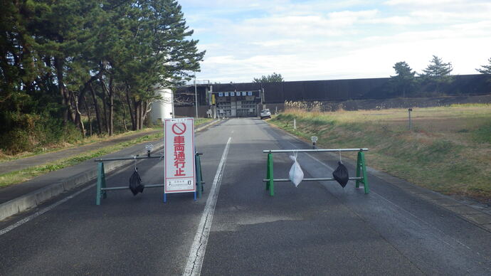
[[[189,258],[183,273],[185,276],[200,275],[201,273],[206,243],[208,243],[208,235],[210,233],[211,223],[213,222],[216,199],[218,198],[218,190],[220,190],[221,179],[225,169],[224,164],[227,159],[228,148],[230,147],[231,141],[232,137],[229,137],[225,149],[223,150],[220,164],[218,164],[218,169],[216,169],[215,179],[213,179],[213,184],[211,184],[210,194],[208,196],[208,200],[206,200],[206,206],[204,208],[203,215],[201,216],[198,231],[194,236],[193,245],[191,245],[191,250],[189,251]]]

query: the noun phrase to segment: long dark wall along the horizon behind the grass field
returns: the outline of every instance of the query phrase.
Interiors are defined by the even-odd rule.
[[[455,75],[449,83],[431,85],[420,83],[406,97],[438,95],[487,95],[491,94],[489,75]],[[308,80],[283,83],[226,83],[213,84],[213,92],[265,91],[265,103],[285,101],[364,100],[401,97],[391,78],[367,78],[353,80]]]

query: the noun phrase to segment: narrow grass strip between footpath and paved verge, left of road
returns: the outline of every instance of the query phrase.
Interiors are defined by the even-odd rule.
[[[211,119],[199,118],[195,120],[195,125],[198,126],[200,124],[204,124],[206,122],[210,122]],[[162,129],[162,127],[156,127],[155,129]],[[83,161],[93,159],[99,156],[103,156],[105,154],[110,154],[113,152],[120,151],[121,149],[125,149],[127,147],[131,147],[134,144],[139,144],[143,142],[155,141],[157,139],[161,139],[164,137],[164,132],[158,132],[155,134],[148,134],[142,137],[132,139],[127,142],[121,142],[119,144],[115,144],[113,146],[103,147],[102,149],[97,149],[92,152],[86,152],[84,154],[78,154],[75,156],[70,156],[65,159],[60,159],[57,161],[53,161],[48,164],[43,164],[41,166],[34,166],[28,169],[23,169],[20,171],[11,171],[6,174],[0,174],[0,187],[10,186],[14,184],[19,184],[30,179],[33,179],[36,176],[40,176],[42,174],[47,174],[50,171],[56,171],[59,169],[64,169],[68,166],[74,166],[80,164]]]

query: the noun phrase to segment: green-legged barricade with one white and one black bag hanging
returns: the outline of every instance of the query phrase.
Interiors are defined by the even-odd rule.
[[[266,171],[266,191],[270,191],[270,196],[275,196],[275,181],[277,182],[287,182],[290,179],[274,179],[273,177],[273,154],[275,153],[288,153],[288,152],[358,152],[357,155],[357,176],[349,177],[349,180],[356,180],[356,188],[359,188],[359,184],[362,183],[364,186],[365,193],[369,193],[369,183],[366,175],[366,163],[364,152],[368,151],[366,148],[359,149],[265,149],[263,153],[268,154],[268,163]],[[313,178],[313,179],[302,179],[302,181],[334,181],[332,177],[325,178]]]

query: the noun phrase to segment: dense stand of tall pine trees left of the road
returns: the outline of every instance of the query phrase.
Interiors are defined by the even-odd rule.
[[[141,129],[154,91],[204,52],[174,0],[20,0],[0,9],[0,149]]]

